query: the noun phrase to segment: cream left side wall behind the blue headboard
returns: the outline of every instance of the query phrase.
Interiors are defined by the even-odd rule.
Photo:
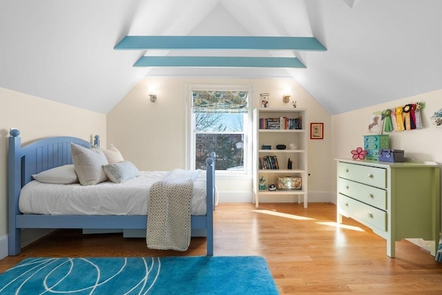
[[[0,88],[0,258],[4,256],[8,234],[7,163],[11,127],[20,130],[22,144],[56,135],[92,140],[95,134],[106,144],[106,115]]]

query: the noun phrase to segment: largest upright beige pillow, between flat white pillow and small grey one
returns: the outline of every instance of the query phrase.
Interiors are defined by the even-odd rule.
[[[81,185],[93,185],[108,180],[103,170],[103,165],[108,164],[108,160],[102,149],[97,147],[86,149],[72,143],[70,144],[70,150],[75,173],[77,173]]]

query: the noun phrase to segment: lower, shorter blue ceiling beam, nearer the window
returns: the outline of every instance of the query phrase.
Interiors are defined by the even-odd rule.
[[[296,57],[171,57],[144,56],[136,67],[305,68]]]

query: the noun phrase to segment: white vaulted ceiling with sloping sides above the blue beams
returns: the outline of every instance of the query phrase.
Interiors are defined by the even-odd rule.
[[[126,35],[316,37],[327,51],[114,50]],[[306,68],[133,67],[143,56]],[[107,113],[143,77],[293,77],[331,114],[442,88],[442,0],[0,0],[0,86]]]

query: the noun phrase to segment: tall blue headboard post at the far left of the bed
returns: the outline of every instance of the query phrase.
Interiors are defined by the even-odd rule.
[[[18,129],[11,129],[8,146],[8,255],[21,252],[21,229],[17,229],[15,216],[19,212],[21,189],[21,139]]]

